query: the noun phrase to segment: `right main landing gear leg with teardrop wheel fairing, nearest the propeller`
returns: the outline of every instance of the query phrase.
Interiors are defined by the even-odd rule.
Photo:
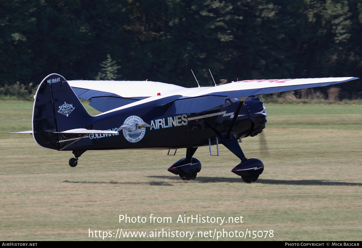
[[[231,172],[241,176],[245,183],[255,182],[264,170],[263,162],[256,158],[247,159],[236,139],[223,140],[222,144],[241,160]]]

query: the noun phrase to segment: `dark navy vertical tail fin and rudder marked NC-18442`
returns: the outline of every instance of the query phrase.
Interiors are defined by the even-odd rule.
[[[54,132],[81,128],[92,123],[92,116],[61,75],[53,73],[43,79],[34,96],[33,137],[47,149],[59,147]]]

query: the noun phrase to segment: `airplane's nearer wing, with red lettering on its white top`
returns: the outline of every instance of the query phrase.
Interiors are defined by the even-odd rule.
[[[140,104],[146,104],[147,106],[160,106],[172,102],[173,105],[169,114],[197,113],[222,105],[225,103],[226,99],[328,86],[354,79],[358,78],[263,79],[244,80],[215,87],[175,88],[173,90],[168,90],[168,88],[166,88],[165,91],[161,91],[159,89],[161,93],[160,96],[154,95],[146,99],[106,111],[102,114]],[[135,82],[135,86],[136,85],[137,82]]]

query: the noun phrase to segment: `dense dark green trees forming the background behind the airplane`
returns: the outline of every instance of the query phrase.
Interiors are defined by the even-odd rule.
[[[202,86],[209,68],[216,83],[362,77],[361,25],[360,0],[0,1],[0,85],[94,79],[106,55],[122,80],[185,87],[190,69]],[[362,92],[361,80],[340,87]]]

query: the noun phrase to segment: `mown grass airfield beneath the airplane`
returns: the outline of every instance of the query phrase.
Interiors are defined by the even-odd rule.
[[[31,130],[32,107],[0,101],[2,240],[102,240],[88,238],[89,229],[110,232],[104,240],[190,238],[147,238],[155,229],[194,231],[191,240],[216,240],[217,234],[195,237],[215,229],[234,234],[218,240],[362,239],[361,105],[266,105],[263,135],[241,143],[248,158],[265,165],[251,184],[231,173],[240,161],[222,145],[219,157],[209,156],[208,147],[197,150],[202,170],[190,182],[167,171],[186,149],[176,156],[166,150],[87,151],[72,168],[71,152],[38,147],[28,134],[7,134]],[[120,214],[147,221],[119,223]],[[172,217],[172,223],[150,223],[150,214]],[[177,223],[179,215],[191,214],[225,221],[243,216],[243,223]],[[147,234],[113,237],[121,229]],[[269,230],[273,237],[264,238],[264,232],[252,238],[253,231]]]

